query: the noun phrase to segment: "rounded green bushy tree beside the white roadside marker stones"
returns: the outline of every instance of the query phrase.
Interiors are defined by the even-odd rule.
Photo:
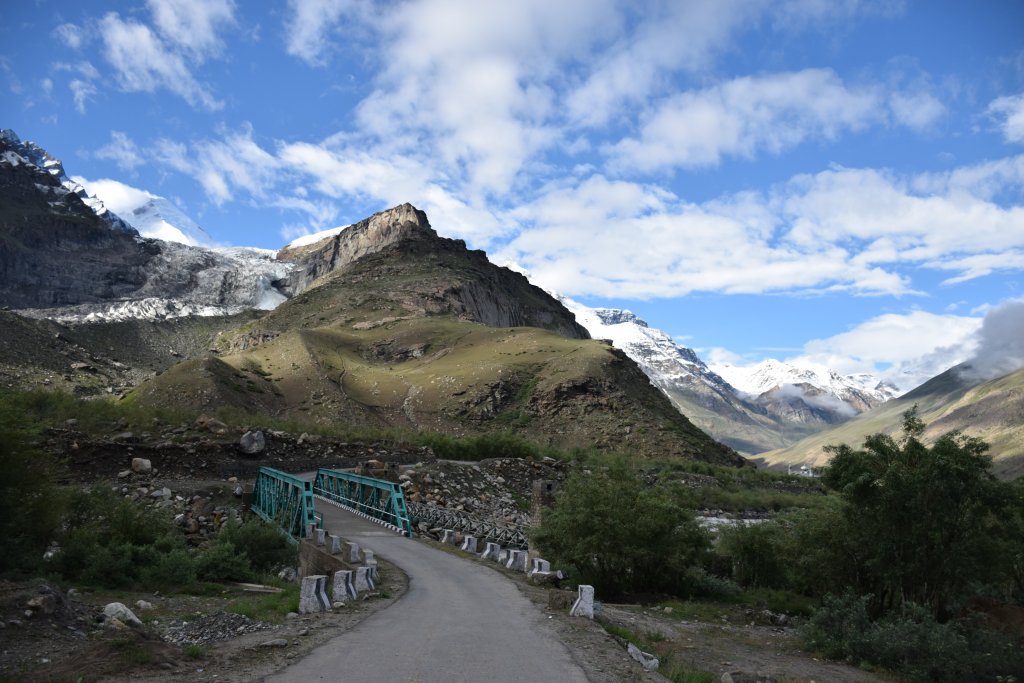
[[[665,487],[643,487],[624,468],[574,474],[532,541],[600,595],[678,593],[709,540],[676,498]]]

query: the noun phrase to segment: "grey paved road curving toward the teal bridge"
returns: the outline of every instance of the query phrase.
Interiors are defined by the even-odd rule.
[[[400,566],[409,592],[267,681],[586,683],[547,617],[499,572],[316,508],[331,532]]]

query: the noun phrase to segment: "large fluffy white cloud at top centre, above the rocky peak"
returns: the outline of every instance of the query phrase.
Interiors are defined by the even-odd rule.
[[[422,0],[378,25],[388,46],[358,109],[380,144],[439,164],[472,201],[512,188],[557,141],[556,82],[591,52],[610,0]]]

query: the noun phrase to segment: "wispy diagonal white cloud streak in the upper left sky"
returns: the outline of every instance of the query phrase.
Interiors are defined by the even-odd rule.
[[[207,86],[196,80],[185,57],[170,49],[147,26],[123,20],[117,12],[111,12],[99,27],[104,56],[124,90],[154,92],[165,88],[194,106],[223,106]]]

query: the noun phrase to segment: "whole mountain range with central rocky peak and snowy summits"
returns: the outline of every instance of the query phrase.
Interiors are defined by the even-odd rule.
[[[278,252],[214,248],[167,199],[70,178],[7,130],[0,197],[0,303],[18,313],[0,333],[10,386],[779,466],[818,462],[820,443],[924,395],[893,400],[876,377],[803,362],[709,367],[630,311],[549,295],[440,238],[410,205]],[[26,352],[47,336],[63,345]],[[68,358],[90,370],[69,373]],[[961,385],[951,410],[966,415],[979,394]],[[1016,454],[1004,432],[989,435]]]

